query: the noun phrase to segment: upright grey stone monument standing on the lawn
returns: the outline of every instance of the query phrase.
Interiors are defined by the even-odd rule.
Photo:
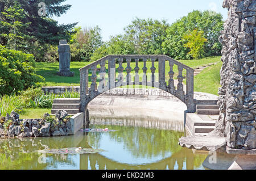
[[[71,52],[67,40],[60,40],[58,48],[60,71],[57,74],[64,77],[73,77],[75,74],[70,71]]]

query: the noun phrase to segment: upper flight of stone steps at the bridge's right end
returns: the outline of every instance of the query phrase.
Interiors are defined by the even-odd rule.
[[[220,110],[217,99],[197,99],[196,113],[198,115],[219,115]]]

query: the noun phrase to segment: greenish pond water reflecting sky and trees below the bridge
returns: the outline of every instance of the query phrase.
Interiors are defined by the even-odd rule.
[[[162,124],[155,120],[141,120],[145,123],[147,121],[144,127],[143,124],[120,126],[113,124],[115,120],[101,121],[101,125],[90,125],[90,128],[107,127],[117,132],[79,132],[67,137],[1,139],[0,169],[204,169],[202,163],[207,155],[193,154],[192,150],[181,148],[177,143],[183,132],[171,131],[174,127],[170,127],[170,130],[148,128],[148,125]],[[130,120],[129,123],[135,122]],[[79,146],[106,151],[81,155],[43,155],[35,152]]]

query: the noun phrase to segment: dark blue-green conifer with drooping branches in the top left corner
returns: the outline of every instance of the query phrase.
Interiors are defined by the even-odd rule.
[[[43,58],[44,53],[38,52],[38,49],[47,51],[49,45],[59,44],[60,39],[71,39],[72,29],[77,23],[58,24],[56,20],[51,19],[53,16],[61,16],[67,12],[71,5],[61,5],[66,0],[0,0],[0,11],[3,12],[13,6],[20,6],[23,10],[24,18],[20,21],[28,24],[26,35],[30,36],[27,45],[27,53],[35,55],[36,60]],[[39,3],[46,3],[46,16],[39,16]],[[0,16],[0,21],[4,21],[5,17]],[[11,23],[10,21],[8,21]],[[1,37],[0,42],[6,45],[6,37]],[[49,44],[49,45],[48,45]],[[35,47],[37,45],[38,47]],[[40,54],[40,57],[38,55]]]

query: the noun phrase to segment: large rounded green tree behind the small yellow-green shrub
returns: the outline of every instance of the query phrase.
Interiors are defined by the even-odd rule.
[[[168,28],[166,40],[162,44],[163,53],[177,60],[190,59],[189,48],[184,47],[187,41],[183,36],[196,28],[203,31],[204,37],[208,40],[204,45],[203,57],[220,56],[221,44],[218,37],[223,30],[222,15],[208,10],[195,10],[173,23]]]

